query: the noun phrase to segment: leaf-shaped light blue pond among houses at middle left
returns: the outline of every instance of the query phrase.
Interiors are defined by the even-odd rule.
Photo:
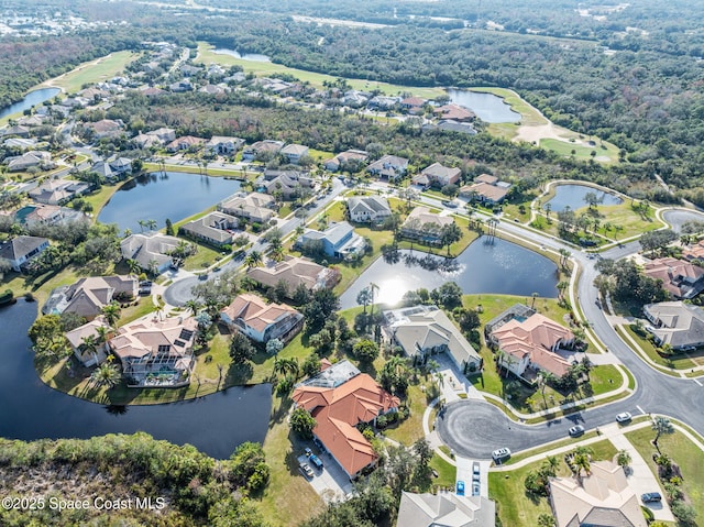
[[[163,228],[212,207],[240,189],[240,182],[182,172],[151,173],[120,187],[98,215],[102,223],[141,232],[140,220],[156,220]]]

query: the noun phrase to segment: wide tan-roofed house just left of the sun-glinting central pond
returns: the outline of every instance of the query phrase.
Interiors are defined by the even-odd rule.
[[[246,275],[264,287],[276,287],[285,282],[290,295],[299,285],[314,290],[320,287],[334,287],[340,282],[340,272],[323,267],[308,259],[287,255],[283,262],[273,263],[266,267],[253,267]]]

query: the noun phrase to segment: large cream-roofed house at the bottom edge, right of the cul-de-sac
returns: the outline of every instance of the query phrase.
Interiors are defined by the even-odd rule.
[[[550,506],[557,527],[646,527],[638,496],[623,466],[594,461],[586,475],[550,477]]]

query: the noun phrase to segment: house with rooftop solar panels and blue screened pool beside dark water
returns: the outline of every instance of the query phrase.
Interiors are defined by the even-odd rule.
[[[108,341],[130,387],[187,385],[195,365],[198,322],[193,318],[142,318]]]

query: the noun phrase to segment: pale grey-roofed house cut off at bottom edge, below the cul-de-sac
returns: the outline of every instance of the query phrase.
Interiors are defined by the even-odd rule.
[[[482,496],[402,492],[398,527],[494,527],[496,504]]]

